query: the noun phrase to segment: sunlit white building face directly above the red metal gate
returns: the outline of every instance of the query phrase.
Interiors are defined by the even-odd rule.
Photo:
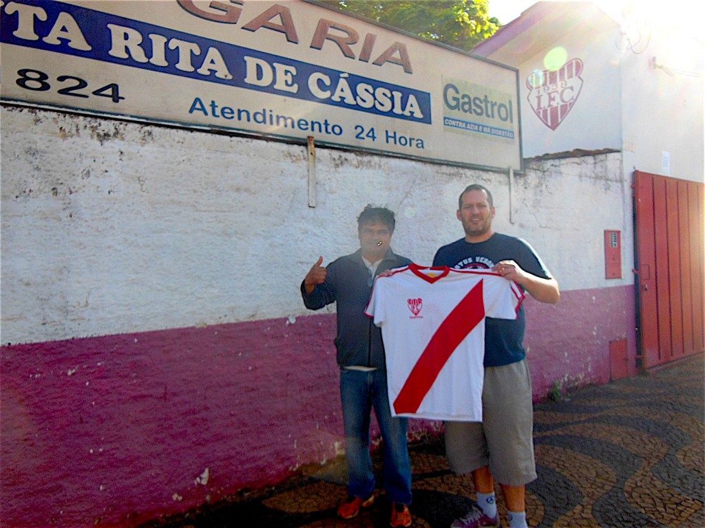
[[[705,43],[656,24],[640,35],[622,66],[625,173],[703,182]]]

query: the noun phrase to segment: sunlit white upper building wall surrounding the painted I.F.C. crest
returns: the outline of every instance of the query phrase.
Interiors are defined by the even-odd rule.
[[[513,39],[501,32],[493,37],[507,42],[488,58],[520,70],[525,158],[618,149],[627,179],[642,170],[705,180],[705,42],[664,25],[661,16],[640,8],[617,22],[592,6],[575,27],[546,17]],[[535,42],[545,45],[525,51],[534,50]],[[583,84],[570,113],[551,130],[527,100],[527,78],[544,70],[544,58],[558,48],[565,49],[568,61],[583,61]]]

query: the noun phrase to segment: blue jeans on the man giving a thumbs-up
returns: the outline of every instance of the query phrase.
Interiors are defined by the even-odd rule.
[[[367,498],[374,491],[369,455],[370,413],[374,407],[384,440],[384,489],[391,502],[410,504],[411,463],[406,436],[409,420],[391,415],[385,370],[341,369],[341,400],[350,495]]]

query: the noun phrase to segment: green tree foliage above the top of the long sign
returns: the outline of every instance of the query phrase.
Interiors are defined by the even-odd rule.
[[[489,0],[323,0],[341,11],[470,51],[500,27]]]

